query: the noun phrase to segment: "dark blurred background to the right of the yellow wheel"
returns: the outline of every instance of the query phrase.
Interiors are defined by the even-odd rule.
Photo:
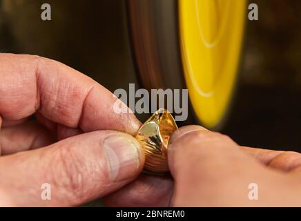
[[[257,0],[229,122],[242,145],[301,151],[301,1]]]

